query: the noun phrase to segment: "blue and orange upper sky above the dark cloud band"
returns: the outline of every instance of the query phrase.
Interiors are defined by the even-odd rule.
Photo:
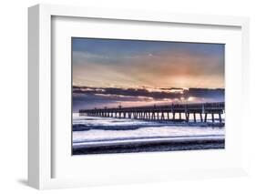
[[[224,45],[72,38],[73,86],[224,87]]]

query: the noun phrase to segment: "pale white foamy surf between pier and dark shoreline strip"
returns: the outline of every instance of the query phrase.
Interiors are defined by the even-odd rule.
[[[132,143],[138,141],[159,141],[159,140],[191,140],[191,139],[224,139],[224,128],[210,127],[177,127],[159,126],[158,122],[143,120],[112,118],[112,117],[73,117],[73,125],[87,125],[89,129],[73,131],[73,147]],[[157,126],[154,126],[157,125]],[[109,130],[108,127],[129,128],[130,126],[144,126],[137,129]],[[102,129],[100,129],[102,128]]]

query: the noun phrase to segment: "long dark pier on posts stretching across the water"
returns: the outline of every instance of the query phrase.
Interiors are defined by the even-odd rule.
[[[147,107],[104,107],[94,109],[80,109],[80,116],[91,117],[117,117],[134,118],[143,120],[171,120],[222,123],[222,114],[225,110],[224,102],[199,103],[199,104],[171,104]]]

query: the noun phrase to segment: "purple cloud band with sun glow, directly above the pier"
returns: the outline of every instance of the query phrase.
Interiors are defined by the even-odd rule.
[[[224,89],[73,87],[73,111],[94,107],[134,107],[224,101]]]

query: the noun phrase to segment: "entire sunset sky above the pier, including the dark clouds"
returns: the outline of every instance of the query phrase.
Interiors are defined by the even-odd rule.
[[[73,112],[224,101],[224,45],[72,38]]]

